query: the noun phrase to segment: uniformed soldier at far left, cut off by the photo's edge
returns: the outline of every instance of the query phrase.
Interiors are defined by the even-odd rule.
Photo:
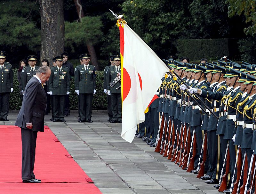
[[[1,71],[1,81],[0,81],[0,120],[9,121],[7,119],[9,113],[9,100],[10,93],[13,91],[13,71],[12,65],[5,62],[6,53],[5,51],[0,51],[0,71]]]

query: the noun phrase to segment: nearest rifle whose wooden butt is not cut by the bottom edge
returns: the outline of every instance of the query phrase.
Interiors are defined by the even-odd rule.
[[[224,166],[225,166],[225,160],[226,160],[226,172],[222,176],[223,170],[224,170]],[[228,173],[229,173],[229,162],[230,162],[229,147],[227,145],[226,154],[225,154],[225,158],[224,158],[224,161],[223,161],[223,167],[222,167],[221,174],[220,174],[220,182],[219,182],[220,188],[218,190],[219,192],[222,192],[222,191],[227,189]],[[222,178],[222,181],[221,181],[221,178]]]

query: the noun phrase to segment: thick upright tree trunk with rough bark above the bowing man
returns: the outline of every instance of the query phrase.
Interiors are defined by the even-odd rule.
[[[41,60],[60,55],[64,50],[63,0],[40,0]],[[41,65],[41,63],[40,63]],[[50,62],[52,67],[52,63]]]

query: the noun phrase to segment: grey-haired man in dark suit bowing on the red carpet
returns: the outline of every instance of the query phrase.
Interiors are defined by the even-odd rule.
[[[34,175],[37,132],[44,132],[44,112],[47,104],[43,84],[49,80],[51,69],[42,66],[24,89],[24,96],[15,125],[21,128],[23,183],[41,183]]]

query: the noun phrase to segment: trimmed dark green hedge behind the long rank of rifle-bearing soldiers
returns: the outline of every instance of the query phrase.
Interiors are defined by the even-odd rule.
[[[179,39],[177,40],[177,51],[179,57],[186,56],[191,61],[207,58],[216,60],[221,56],[227,56],[229,59],[239,60],[237,39]]]

